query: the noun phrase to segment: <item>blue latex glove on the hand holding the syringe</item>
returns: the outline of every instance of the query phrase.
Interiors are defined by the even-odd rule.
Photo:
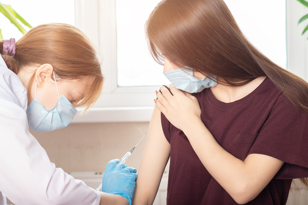
[[[136,187],[137,170],[125,164],[118,164],[119,162],[119,159],[115,159],[107,163],[103,176],[102,191],[124,196],[131,205]]]

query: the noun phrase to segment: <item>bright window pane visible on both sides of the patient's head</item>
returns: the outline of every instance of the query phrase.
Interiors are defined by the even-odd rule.
[[[163,66],[151,57],[144,23],[158,0],[116,0],[119,86],[168,85]],[[286,68],[286,1],[225,0],[245,36],[262,53]]]

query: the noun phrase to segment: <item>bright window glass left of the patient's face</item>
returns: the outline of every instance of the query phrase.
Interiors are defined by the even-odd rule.
[[[169,85],[148,51],[144,24],[160,0],[116,0],[117,70],[119,86]]]

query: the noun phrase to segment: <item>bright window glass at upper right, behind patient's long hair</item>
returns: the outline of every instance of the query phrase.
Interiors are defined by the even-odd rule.
[[[286,1],[224,1],[249,41],[274,63],[286,69]]]

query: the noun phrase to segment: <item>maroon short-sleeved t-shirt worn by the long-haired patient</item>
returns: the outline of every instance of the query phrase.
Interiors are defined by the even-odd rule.
[[[256,153],[285,162],[247,204],[286,204],[292,179],[308,177],[308,114],[297,110],[268,78],[231,103],[217,100],[209,88],[194,96],[203,123],[227,152],[243,161]],[[184,133],[163,114],[161,124],[171,146],[167,204],[237,204],[203,166]]]

